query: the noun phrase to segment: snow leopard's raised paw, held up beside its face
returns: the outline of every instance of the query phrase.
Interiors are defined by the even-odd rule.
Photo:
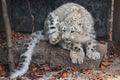
[[[55,45],[55,44],[59,43],[60,40],[61,40],[61,36],[60,36],[59,32],[55,32],[55,33],[49,35],[50,44]]]

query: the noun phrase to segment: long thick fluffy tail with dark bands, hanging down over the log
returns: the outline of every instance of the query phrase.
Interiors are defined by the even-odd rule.
[[[18,76],[22,76],[27,72],[34,48],[40,40],[45,40],[45,37],[42,35],[42,31],[34,32],[27,38],[26,42],[23,44],[18,66],[14,70],[10,71],[8,78],[13,79]]]

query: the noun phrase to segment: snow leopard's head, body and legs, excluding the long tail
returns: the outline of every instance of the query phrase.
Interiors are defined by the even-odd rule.
[[[87,57],[94,60],[100,58],[99,52],[96,51],[94,21],[84,7],[75,3],[59,7],[48,15],[44,30],[48,33],[51,44],[59,44],[70,51],[73,63],[83,63],[83,46]]]

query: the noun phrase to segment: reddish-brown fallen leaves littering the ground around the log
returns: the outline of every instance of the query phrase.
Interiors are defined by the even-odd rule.
[[[7,46],[4,33],[1,33],[0,37],[0,48],[4,48]],[[13,42],[22,40],[24,37],[23,33],[12,31]],[[100,43],[105,42],[102,40]],[[63,68],[58,64],[50,67],[48,64],[32,63],[26,74],[16,80],[120,80],[118,74],[105,72],[105,69],[113,62],[114,54],[113,49],[108,49],[108,57],[101,62],[99,71],[80,69],[75,65]],[[0,80],[8,80],[5,76],[9,70],[5,66],[6,64],[0,64]]]

